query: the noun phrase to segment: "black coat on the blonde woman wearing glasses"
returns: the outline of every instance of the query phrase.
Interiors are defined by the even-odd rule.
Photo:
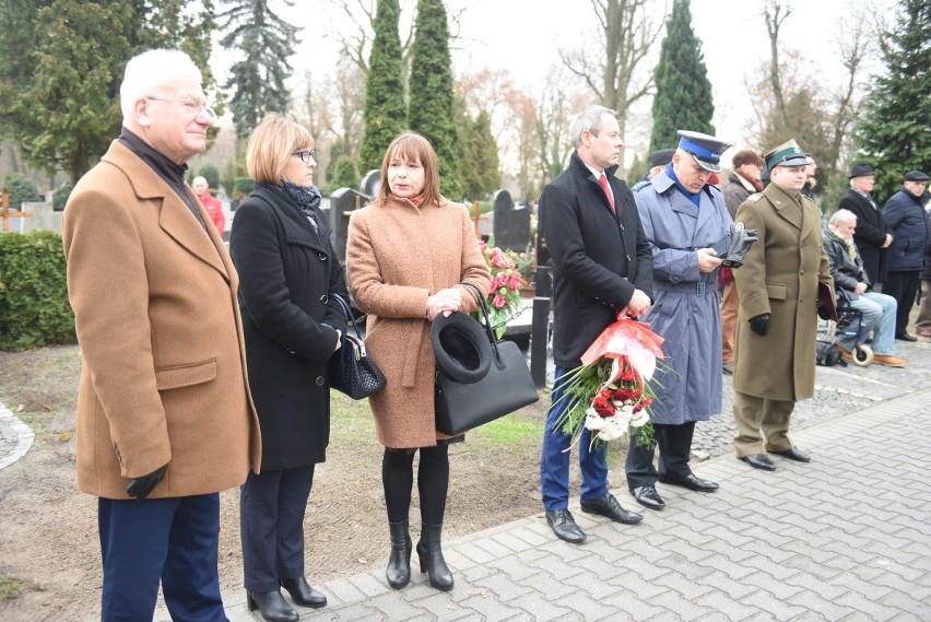
[[[263,470],[322,462],[330,439],[327,363],[346,322],[328,294],[345,295],[345,275],[317,212],[319,233],[282,189],[260,184],[233,220]]]

